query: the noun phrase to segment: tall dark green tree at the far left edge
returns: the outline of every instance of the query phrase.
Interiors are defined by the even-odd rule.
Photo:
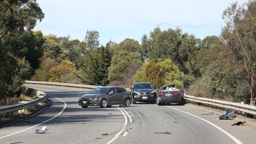
[[[13,95],[17,85],[31,76],[22,37],[43,18],[36,0],[0,1],[0,97]]]

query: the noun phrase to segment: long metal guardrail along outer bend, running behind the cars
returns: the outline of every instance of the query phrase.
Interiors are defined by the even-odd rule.
[[[54,83],[54,82],[44,82],[44,81],[25,81],[25,83],[32,83],[32,84],[43,84],[43,85],[56,85],[56,86],[65,86],[65,87],[78,87],[78,88],[88,88],[88,89],[95,89],[100,86],[95,85],[79,85],[79,84],[70,84],[70,83]],[[127,91],[131,91],[127,89]],[[240,103],[234,102],[226,102],[221,100],[213,100],[208,98],[198,98],[195,96],[185,95],[185,98],[189,101],[195,103],[205,103],[206,105],[213,105],[214,107],[223,107],[226,109],[233,109],[238,113],[249,113],[256,116],[256,107],[252,105],[243,105]]]

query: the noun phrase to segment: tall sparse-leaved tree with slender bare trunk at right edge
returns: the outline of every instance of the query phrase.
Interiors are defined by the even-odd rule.
[[[245,6],[238,6],[236,2],[225,9],[222,18],[226,26],[221,37],[234,70],[247,80],[244,84],[249,89],[251,105],[256,91],[256,1],[249,1]]]

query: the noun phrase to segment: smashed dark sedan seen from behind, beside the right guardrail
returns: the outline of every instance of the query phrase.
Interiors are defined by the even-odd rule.
[[[174,87],[175,84],[161,86],[156,104],[178,103],[179,105],[182,105],[184,103],[183,92]]]

